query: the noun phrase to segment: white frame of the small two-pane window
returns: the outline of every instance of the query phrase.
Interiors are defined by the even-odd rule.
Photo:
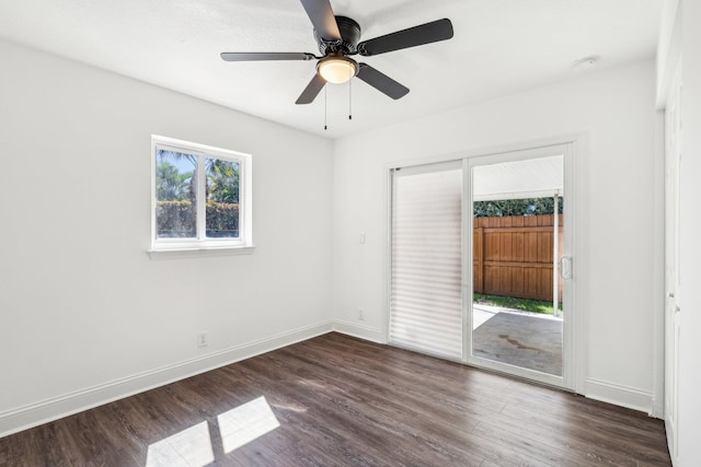
[[[207,238],[206,237],[206,199],[197,197],[197,232],[196,238],[159,238],[157,225],[158,207],[158,151],[182,152],[197,156],[197,192],[205,192],[206,173],[205,159],[214,157],[239,163],[239,237],[237,238]],[[252,156],[242,152],[210,145],[177,140],[173,138],[151,136],[151,258],[158,258],[160,254],[180,253],[191,256],[202,253],[252,253],[253,252],[253,225],[252,225]]]

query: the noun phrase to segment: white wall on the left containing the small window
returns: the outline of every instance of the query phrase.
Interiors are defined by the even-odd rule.
[[[331,329],[331,141],[0,57],[0,436]],[[151,133],[253,154],[253,255],[149,259]]]

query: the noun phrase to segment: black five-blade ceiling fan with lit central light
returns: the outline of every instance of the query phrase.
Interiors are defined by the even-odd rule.
[[[321,56],[309,52],[221,54],[226,61],[318,60],[317,73],[297,100],[297,104],[312,103],[327,82],[345,83],[354,77],[394,100],[401,98],[409,93],[407,87],[350,57],[370,57],[452,37],[452,23],[444,19],[359,42],[360,25],[349,17],[335,16],[329,0],[301,0],[301,3],[314,27],[314,38]]]

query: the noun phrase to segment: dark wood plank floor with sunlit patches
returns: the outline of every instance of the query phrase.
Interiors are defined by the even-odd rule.
[[[670,462],[643,413],[329,334],[0,439],[0,465]]]

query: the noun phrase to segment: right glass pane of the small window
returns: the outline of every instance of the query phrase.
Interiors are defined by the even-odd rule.
[[[240,165],[233,161],[207,157],[206,166],[207,237],[235,238],[239,236]]]

